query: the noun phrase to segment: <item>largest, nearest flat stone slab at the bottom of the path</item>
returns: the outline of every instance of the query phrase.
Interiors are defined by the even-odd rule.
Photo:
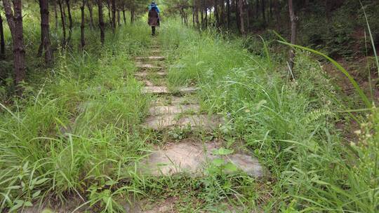
[[[169,144],[164,149],[157,149],[142,160],[138,168],[142,174],[152,176],[170,176],[178,173],[188,173],[192,177],[206,175],[206,167],[215,159],[222,159],[224,163],[232,163],[237,169],[246,172],[251,177],[264,177],[267,172],[251,155],[232,153],[227,156],[213,154],[222,148],[218,142],[180,142]],[[233,173],[236,171],[227,171]]]

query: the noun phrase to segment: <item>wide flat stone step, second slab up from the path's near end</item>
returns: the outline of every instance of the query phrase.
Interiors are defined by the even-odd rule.
[[[218,116],[166,114],[149,116],[144,125],[146,128],[153,130],[186,128],[188,126],[197,129],[213,130],[218,128],[222,123],[224,123],[223,119]]]

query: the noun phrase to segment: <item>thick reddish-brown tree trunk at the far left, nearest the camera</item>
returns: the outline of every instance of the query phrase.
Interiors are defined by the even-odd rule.
[[[22,95],[19,87],[25,79],[25,46],[22,35],[22,3],[21,0],[13,0],[13,10],[9,0],[3,0],[6,20],[13,40],[13,64],[15,69],[15,84],[18,86],[18,95]]]

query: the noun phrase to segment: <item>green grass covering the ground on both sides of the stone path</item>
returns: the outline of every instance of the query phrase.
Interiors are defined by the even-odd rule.
[[[260,38],[199,33],[167,20],[157,39],[167,57],[168,86],[199,87],[201,110],[225,116],[227,123],[212,135],[173,130],[165,136],[140,128],[152,98],[133,78],[133,57],[147,55],[151,41],[145,22],[114,35],[107,30],[103,47],[98,31],[87,29],[84,52],[75,48],[79,28],[67,49],[59,48],[60,32],[53,30],[58,51],[48,68],[32,60],[39,44],[36,22],[25,22],[26,34],[34,35],[27,41],[25,95],[0,102],[0,209],[77,200],[80,210],[123,212],[135,197],[153,204],[178,198],[178,212],[377,211],[379,111],[355,114],[357,142],[346,138],[336,125],[349,123],[346,109],[359,96],[345,102],[349,97],[309,53],[299,51],[297,79],[289,81],[277,60],[283,56],[272,57]],[[262,49],[252,54],[249,42]],[[151,144],[182,137],[216,138],[227,149],[246,149],[271,177],[226,174],[226,165],[215,163],[197,178],[136,172]]]

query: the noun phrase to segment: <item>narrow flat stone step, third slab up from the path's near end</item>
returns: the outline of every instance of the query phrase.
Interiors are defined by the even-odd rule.
[[[171,106],[154,106],[149,109],[150,115],[182,114],[186,111],[199,111],[199,104],[180,104]]]

